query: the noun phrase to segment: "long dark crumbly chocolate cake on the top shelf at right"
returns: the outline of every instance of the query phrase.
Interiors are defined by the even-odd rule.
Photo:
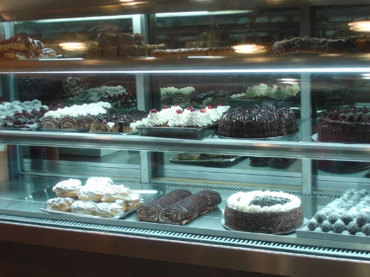
[[[271,54],[281,55],[296,52],[325,54],[325,53],[351,53],[354,44],[349,39],[317,38],[317,37],[293,37],[276,41],[272,45]]]

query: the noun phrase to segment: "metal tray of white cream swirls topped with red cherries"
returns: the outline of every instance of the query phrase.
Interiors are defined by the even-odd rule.
[[[182,109],[178,104],[164,106],[161,111],[152,109],[144,118],[144,124],[137,126],[137,129],[140,135],[202,138],[213,133],[222,113],[228,109],[223,103],[200,110],[192,106]]]

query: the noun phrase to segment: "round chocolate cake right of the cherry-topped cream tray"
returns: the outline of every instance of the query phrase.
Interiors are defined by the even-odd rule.
[[[221,116],[218,133],[235,138],[266,138],[297,132],[293,110],[272,105],[229,109]]]

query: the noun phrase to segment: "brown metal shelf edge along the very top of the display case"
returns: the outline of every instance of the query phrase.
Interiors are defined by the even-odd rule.
[[[347,2],[334,0],[142,0],[140,4],[122,4],[118,0],[17,0],[2,3],[0,14],[3,21],[38,20],[51,18],[72,18],[83,16],[104,16],[121,14],[148,14],[159,12],[189,12],[240,9],[298,8],[301,6],[348,5]],[[366,0],[354,0],[351,5],[368,5]],[[32,12],[30,12],[32,11]]]

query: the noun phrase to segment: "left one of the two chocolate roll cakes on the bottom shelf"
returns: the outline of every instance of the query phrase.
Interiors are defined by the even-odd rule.
[[[141,221],[158,221],[158,214],[161,210],[189,195],[191,195],[189,190],[175,189],[158,199],[141,205],[136,212]]]

